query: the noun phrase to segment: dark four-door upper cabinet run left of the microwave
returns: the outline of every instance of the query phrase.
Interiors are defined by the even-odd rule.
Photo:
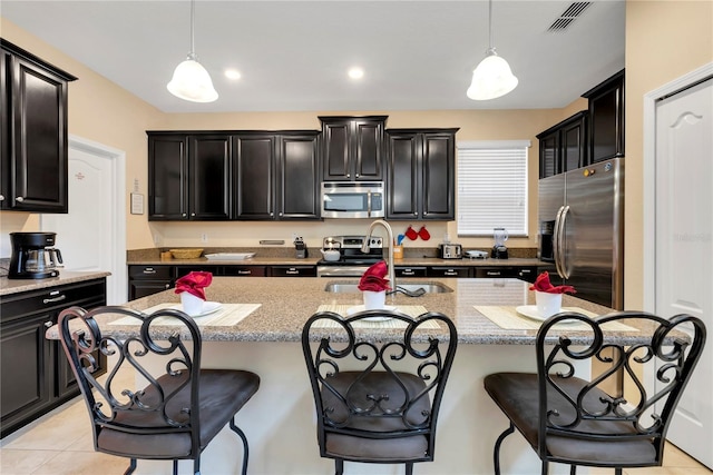
[[[150,220],[320,218],[319,131],[147,133]]]

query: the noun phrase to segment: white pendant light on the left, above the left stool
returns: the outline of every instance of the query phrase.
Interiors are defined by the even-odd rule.
[[[192,102],[213,102],[218,93],[213,88],[211,75],[198,62],[193,33],[195,17],[195,0],[191,0],[191,52],[188,58],[176,67],[174,77],[166,85],[168,91],[177,98]]]

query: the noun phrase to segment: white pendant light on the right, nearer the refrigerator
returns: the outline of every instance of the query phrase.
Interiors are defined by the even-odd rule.
[[[492,46],[492,0],[488,1],[488,50],[486,58],[472,71],[472,82],[466,95],[472,100],[488,100],[505,96],[517,87],[510,65],[498,56]]]

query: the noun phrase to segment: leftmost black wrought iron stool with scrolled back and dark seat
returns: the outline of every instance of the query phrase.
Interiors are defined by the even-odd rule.
[[[136,336],[121,340],[101,334],[96,317],[117,315],[136,319]],[[176,309],[146,315],[116,306],[89,311],[71,307],[60,314],[58,325],[91,417],[96,451],[129,457],[127,474],[136,468],[137,458],[172,459],[174,473],[178,459],[193,459],[194,472],[199,473],[201,452],[229,423],[243,439],[245,473],[247,441],[233,416],[257,390],[260,378],[241,370],[202,372],[202,338],[193,318]],[[110,366],[99,378],[94,376],[97,352],[107,356]],[[126,370],[130,372],[128,379],[119,374]],[[213,402],[226,398],[218,394],[222,386],[235,392],[233,397],[240,402],[226,404],[218,414],[207,415],[211,420],[203,420],[201,397]],[[202,433],[202,423],[216,428]]]

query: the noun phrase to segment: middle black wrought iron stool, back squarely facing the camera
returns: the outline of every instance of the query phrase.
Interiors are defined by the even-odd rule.
[[[360,327],[384,317],[401,328]],[[332,327],[320,328],[320,320],[332,321]],[[440,329],[424,329],[432,321]],[[412,318],[368,310],[343,318],[324,311],[307,320],[302,347],[320,454],[335,459],[338,474],[344,461],[406,463],[411,473],[414,462],[433,459],[438,413],[457,344],[453,323],[438,313]]]

